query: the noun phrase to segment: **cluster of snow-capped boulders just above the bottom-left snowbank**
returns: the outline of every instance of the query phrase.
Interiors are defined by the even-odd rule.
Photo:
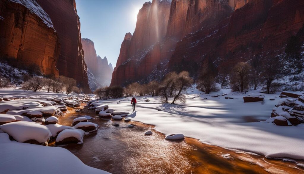
[[[55,116],[47,118],[44,124],[34,123],[31,119],[18,119],[19,115],[0,114],[0,133],[7,133],[11,140],[21,143],[45,146],[54,141],[56,144],[82,144],[85,135],[98,130],[85,117],[74,119],[72,126],[59,125]]]

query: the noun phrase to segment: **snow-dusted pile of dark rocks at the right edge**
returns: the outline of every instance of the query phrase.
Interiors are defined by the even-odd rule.
[[[271,118],[266,120],[278,126],[295,126],[304,123],[304,94],[282,92]]]

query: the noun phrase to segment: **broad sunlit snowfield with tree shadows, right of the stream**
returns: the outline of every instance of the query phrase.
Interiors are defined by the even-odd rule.
[[[188,93],[186,103],[178,105],[160,103],[160,97],[136,97],[136,112],[127,118],[155,125],[166,135],[182,133],[203,143],[266,157],[304,159],[303,125],[276,126],[265,122],[280,100],[278,94],[265,94],[264,101],[244,103],[245,94],[230,94],[230,90],[209,95],[197,90]],[[211,97],[221,93],[228,93],[233,99]],[[274,97],[277,98],[269,100]],[[146,99],[150,101],[145,102]],[[132,112],[130,101],[131,98],[123,98],[99,102],[116,111]]]

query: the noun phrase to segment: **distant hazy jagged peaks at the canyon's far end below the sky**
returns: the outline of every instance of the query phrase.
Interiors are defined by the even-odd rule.
[[[102,59],[96,55],[93,41],[90,39],[81,39],[81,43],[83,45],[83,50],[85,53],[85,63],[94,76],[94,78],[90,77],[90,80],[93,81],[95,79],[95,83],[97,83],[99,87],[109,86],[113,72],[112,64],[108,64],[108,59],[106,57]],[[89,83],[92,91],[96,89],[95,83]]]

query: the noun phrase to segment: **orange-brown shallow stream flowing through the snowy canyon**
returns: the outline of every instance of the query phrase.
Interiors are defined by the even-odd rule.
[[[98,131],[86,136],[82,145],[61,147],[86,165],[111,173],[304,173],[292,162],[202,144],[193,138],[168,141],[154,126],[102,120],[92,110],[75,109],[79,108],[69,108],[59,124],[71,126],[74,118],[87,115],[93,118],[90,122],[98,124]],[[119,127],[112,123],[119,123]],[[136,126],[128,128],[129,124]],[[143,135],[149,129],[153,134]]]

